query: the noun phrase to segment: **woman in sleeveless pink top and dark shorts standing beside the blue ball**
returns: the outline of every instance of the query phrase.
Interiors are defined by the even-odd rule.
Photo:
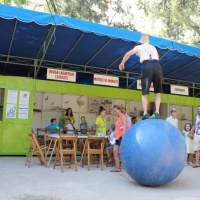
[[[113,107],[113,112],[117,115],[116,121],[115,121],[115,145],[113,147],[113,153],[114,153],[114,159],[115,159],[115,168],[110,170],[111,172],[121,172],[121,166],[120,166],[120,155],[119,155],[119,147],[120,143],[122,141],[122,137],[126,133],[126,116],[122,112],[122,107],[115,105]]]

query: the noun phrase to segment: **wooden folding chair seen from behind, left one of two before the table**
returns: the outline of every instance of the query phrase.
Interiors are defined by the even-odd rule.
[[[66,147],[63,144],[70,142],[71,147]],[[74,161],[75,171],[77,171],[77,159],[76,159],[76,149],[77,149],[77,136],[71,135],[61,135],[58,139],[58,149],[56,151],[56,157],[54,160],[54,169],[56,166],[61,166],[61,171],[64,172],[64,167],[71,167]],[[69,155],[69,157],[64,157]],[[69,160],[69,163],[67,161]],[[60,162],[57,164],[57,162]]]

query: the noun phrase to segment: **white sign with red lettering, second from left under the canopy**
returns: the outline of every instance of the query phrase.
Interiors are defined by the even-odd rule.
[[[94,74],[93,83],[97,85],[108,85],[113,87],[119,87],[119,78],[114,76],[104,76]]]

